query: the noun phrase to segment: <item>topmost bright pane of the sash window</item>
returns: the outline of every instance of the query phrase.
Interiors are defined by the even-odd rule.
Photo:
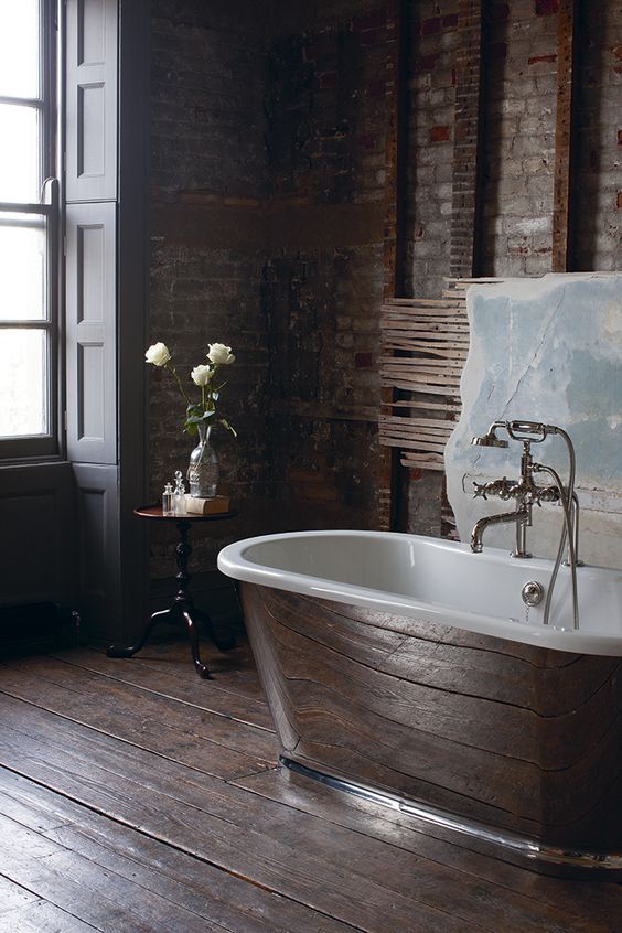
[[[0,96],[39,97],[39,0],[0,0]]]

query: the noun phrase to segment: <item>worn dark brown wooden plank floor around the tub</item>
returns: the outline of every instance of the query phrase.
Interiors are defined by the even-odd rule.
[[[621,933],[543,878],[276,766],[246,645],[0,665],[0,933]]]

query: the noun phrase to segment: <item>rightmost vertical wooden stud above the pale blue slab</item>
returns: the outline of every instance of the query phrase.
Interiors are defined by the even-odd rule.
[[[575,97],[576,8],[577,0],[561,0],[559,4],[551,257],[554,272],[567,272],[571,268],[570,172]]]

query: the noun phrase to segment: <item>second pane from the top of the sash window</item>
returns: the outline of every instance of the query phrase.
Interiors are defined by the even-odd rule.
[[[0,104],[0,201],[39,203],[39,111]]]

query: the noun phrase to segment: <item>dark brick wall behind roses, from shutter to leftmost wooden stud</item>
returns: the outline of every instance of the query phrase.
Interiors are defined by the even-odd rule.
[[[386,10],[294,12],[153,6],[151,337],[183,375],[211,341],[237,354],[219,453],[240,514],[194,536],[203,567],[227,538],[377,519]],[[150,375],[156,497],[192,444]],[[170,575],[170,536],[152,555]]]

